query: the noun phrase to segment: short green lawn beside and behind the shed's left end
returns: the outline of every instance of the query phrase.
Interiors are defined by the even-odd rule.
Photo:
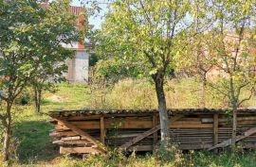
[[[13,109],[14,128],[13,136],[16,145],[16,154],[20,162],[34,163],[47,161],[59,156],[59,147],[52,144],[49,131],[53,126],[48,123],[46,113],[56,109],[86,108],[85,85],[61,84],[56,93],[44,94],[42,110],[44,114],[34,111],[33,102],[27,106],[15,106]],[[15,148],[14,148],[15,149]]]

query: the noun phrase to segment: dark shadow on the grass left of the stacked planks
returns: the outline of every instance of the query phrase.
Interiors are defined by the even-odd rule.
[[[13,134],[19,142],[17,154],[21,162],[51,160],[59,155],[59,147],[49,137],[49,130],[53,126],[46,121],[26,121],[14,127]]]

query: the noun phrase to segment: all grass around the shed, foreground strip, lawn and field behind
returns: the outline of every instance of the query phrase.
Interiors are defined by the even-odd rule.
[[[165,86],[168,108],[200,107],[200,84],[194,79],[168,81]],[[225,107],[222,97],[208,90],[208,108]],[[245,104],[255,106],[255,97]],[[90,89],[85,85],[60,84],[59,92],[44,93],[43,112],[55,109],[145,109],[156,108],[154,85],[144,80],[123,80],[112,87]],[[192,152],[173,161],[160,161],[154,155],[124,157],[119,153],[87,159],[59,155],[58,145],[48,136],[53,128],[46,114],[36,114],[32,102],[13,110],[14,166],[256,166],[256,154],[248,151],[236,156]],[[0,125],[1,128],[1,125]],[[15,157],[13,158],[15,159]],[[1,163],[0,163],[1,166]]]

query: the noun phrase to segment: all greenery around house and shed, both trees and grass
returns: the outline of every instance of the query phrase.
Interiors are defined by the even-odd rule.
[[[0,1],[0,165],[12,160],[16,166],[42,166],[52,160],[55,166],[255,166],[254,151],[234,149],[237,109],[256,106],[254,2],[113,1],[101,30],[91,34],[97,49],[89,85],[63,83],[54,94],[42,91],[64,80],[64,61],[73,55],[62,44],[83,40],[85,25],[78,27],[68,12],[69,0],[51,1],[47,8],[39,2]],[[88,12],[99,9],[95,1],[88,3]],[[29,93],[23,95],[25,89]],[[34,114],[31,89],[44,115]],[[183,154],[168,145],[167,108],[197,107],[232,108],[232,154]],[[47,111],[84,108],[157,108],[162,142],[143,157],[113,150],[83,160],[55,159]]]

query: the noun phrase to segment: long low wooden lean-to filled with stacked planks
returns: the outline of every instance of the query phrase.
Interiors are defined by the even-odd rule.
[[[218,149],[231,142],[229,109],[168,109],[171,140],[182,150]],[[61,154],[101,154],[107,148],[152,151],[160,141],[155,109],[51,111],[50,132]],[[256,109],[238,109],[237,142],[256,147]]]

